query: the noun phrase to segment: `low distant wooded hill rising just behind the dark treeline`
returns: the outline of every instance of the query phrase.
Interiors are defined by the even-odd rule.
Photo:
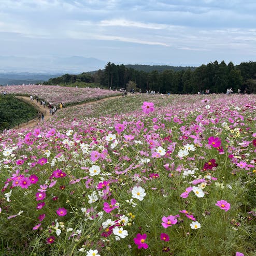
[[[191,69],[191,70],[195,70],[196,67],[175,67],[175,66],[168,66],[168,65],[125,65],[127,68],[133,68],[135,70],[139,70],[139,71],[145,71],[145,72],[152,72],[154,70],[157,70],[158,72],[163,72],[164,70],[173,70],[173,71],[180,71],[180,70],[187,70],[187,69]]]

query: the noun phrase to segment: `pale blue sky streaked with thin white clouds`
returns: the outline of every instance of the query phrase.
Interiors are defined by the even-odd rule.
[[[0,0],[0,56],[236,65],[256,61],[255,13],[255,0]]]

